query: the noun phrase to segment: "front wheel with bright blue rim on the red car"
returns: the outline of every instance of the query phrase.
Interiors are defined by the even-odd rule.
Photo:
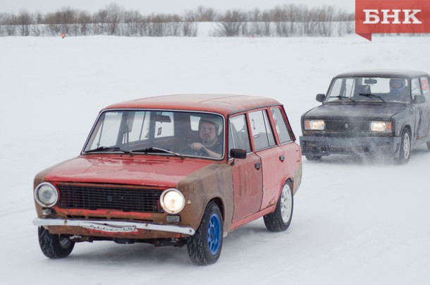
[[[211,265],[219,259],[223,245],[223,217],[218,205],[209,202],[202,222],[187,238],[188,255],[195,265]]]

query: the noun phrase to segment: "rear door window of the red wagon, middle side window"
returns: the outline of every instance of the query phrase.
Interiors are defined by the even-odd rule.
[[[276,144],[266,110],[250,112],[250,123],[256,150],[262,150]]]

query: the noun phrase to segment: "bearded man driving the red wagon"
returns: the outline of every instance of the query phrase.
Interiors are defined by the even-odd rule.
[[[223,145],[221,141],[222,119],[219,117],[203,117],[199,121],[200,142],[191,144],[192,150],[204,156],[213,158],[221,157]]]

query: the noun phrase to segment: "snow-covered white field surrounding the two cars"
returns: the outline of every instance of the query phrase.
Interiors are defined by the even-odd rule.
[[[219,261],[187,249],[78,243],[49,260],[32,225],[38,171],[80,153],[100,109],[137,97],[226,93],[274,97],[295,135],[337,73],[430,72],[430,37],[0,38],[1,284],[430,284],[430,152],[409,164],[303,159],[293,222],[233,231]]]

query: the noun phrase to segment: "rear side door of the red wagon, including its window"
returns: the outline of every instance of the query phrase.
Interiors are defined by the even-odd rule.
[[[278,202],[278,194],[284,182],[282,179],[285,174],[285,154],[283,149],[276,145],[267,109],[250,111],[249,120],[254,151],[262,159],[263,200],[260,210],[264,210]]]

